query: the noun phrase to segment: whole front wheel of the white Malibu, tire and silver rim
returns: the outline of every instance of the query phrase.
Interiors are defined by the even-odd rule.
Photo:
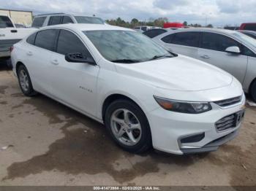
[[[116,144],[127,152],[142,153],[152,147],[146,115],[132,101],[113,101],[106,109],[105,126]]]

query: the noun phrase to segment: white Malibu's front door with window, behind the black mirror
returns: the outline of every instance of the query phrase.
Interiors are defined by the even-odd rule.
[[[95,114],[96,86],[99,66],[89,63],[69,63],[67,53],[91,53],[82,40],[72,31],[61,30],[56,52],[50,58],[50,79],[56,98],[88,114]]]

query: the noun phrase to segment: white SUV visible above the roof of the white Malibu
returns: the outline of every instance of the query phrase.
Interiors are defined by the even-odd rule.
[[[89,24],[106,24],[100,17],[91,17],[85,15],[74,15],[66,13],[53,13],[37,15],[34,17],[31,27],[40,28],[43,26],[54,26],[67,23],[89,23]]]

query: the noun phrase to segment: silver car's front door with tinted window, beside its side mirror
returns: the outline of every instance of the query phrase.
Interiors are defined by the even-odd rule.
[[[225,52],[227,47],[233,46],[240,48],[240,55]],[[197,58],[227,71],[243,83],[247,67],[247,56],[244,49],[242,44],[228,36],[203,32]]]

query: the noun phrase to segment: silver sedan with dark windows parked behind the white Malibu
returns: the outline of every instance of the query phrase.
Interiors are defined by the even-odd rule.
[[[224,29],[182,28],[153,39],[170,51],[229,72],[256,101],[256,40],[252,37]]]

